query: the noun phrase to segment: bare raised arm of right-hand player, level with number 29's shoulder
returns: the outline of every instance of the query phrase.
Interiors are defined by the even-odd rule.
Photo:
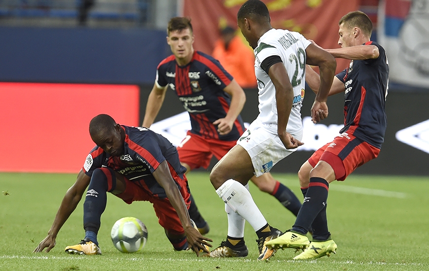
[[[378,47],[375,45],[357,45],[325,50],[335,58],[344,58],[350,60],[374,59],[379,55]]]

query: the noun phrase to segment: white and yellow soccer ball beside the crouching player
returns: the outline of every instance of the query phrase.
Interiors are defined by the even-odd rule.
[[[140,251],[146,244],[147,229],[135,217],[123,217],[115,222],[110,232],[113,245],[121,252]]]

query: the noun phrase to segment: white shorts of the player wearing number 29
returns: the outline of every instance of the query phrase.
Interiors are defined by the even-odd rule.
[[[302,130],[291,135],[301,141]],[[280,160],[297,150],[286,149],[279,135],[269,133],[255,122],[240,136],[237,144],[249,153],[256,177],[269,172]]]

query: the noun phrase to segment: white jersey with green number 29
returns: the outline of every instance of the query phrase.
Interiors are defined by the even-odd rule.
[[[261,63],[271,56],[279,56],[282,59],[294,96],[286,131],[288,133],[300,131],[302,130],[300,110],[305,89],[305,49],[310,44],[309,40],[297,32],[271,29],[260,37],[254,49],[259,94],[259,115],[256,120],[273,134],[277,134],[276,89],[268,74],[261,68]]]

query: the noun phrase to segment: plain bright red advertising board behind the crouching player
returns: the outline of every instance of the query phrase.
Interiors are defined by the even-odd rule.
[[[95,146],[90,120],[139,125],[136,85],[0,83],[0,171],[77,173]]]

